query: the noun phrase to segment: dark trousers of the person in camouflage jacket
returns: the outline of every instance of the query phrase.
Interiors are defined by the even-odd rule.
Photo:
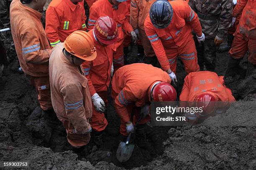
[[[199,43],[196,35],[194,36],[195,46],[197,49],[197,61],[200,70],[204,70],[204,66],[208,71],[215,70],[217,47],[214,44],[214,38],[206,38],[205,42]]]

